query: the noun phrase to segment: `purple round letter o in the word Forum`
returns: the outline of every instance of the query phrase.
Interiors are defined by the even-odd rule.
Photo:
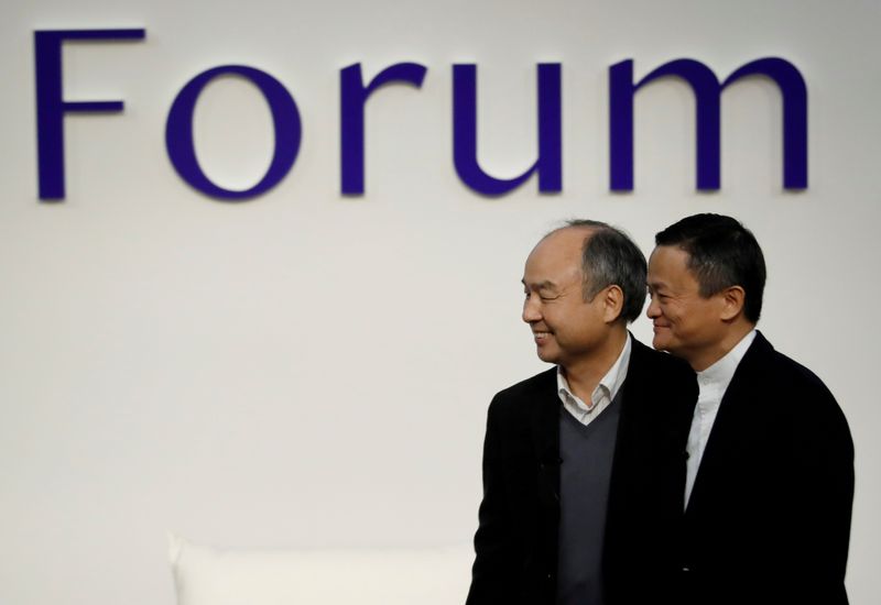
[[[257,185],[243,191],[224,189],[211,183],[199,166],[193,144],[193,111],[196,101],[209,81],[225,74],[241,76],[260,89],[272,112],[275,131],[275,148],[267,174]],[[192,187],[222,201],[242,201],[269,191],[284,178],[300,152],[301,134],[296,102],[279,80],[265,72],[246,65],[221,65],[203,72],[177,94],[165,123],[165,147],[177,174]]]

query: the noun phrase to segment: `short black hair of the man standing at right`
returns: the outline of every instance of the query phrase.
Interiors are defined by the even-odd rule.
[[[752,323],[759,321],[766,277],[764,255],[740,221],[724,215],[693,215],[660,231],[654,243],[688,253],[688,270],[704,298],[731,286],[743,288],[743,315]]]

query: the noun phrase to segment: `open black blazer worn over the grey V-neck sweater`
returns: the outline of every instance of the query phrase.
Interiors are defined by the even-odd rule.
[[[672,544],[697,395],[684,362],[631,341],[606,518],[609,605],[659,602],[678,578]],[[563,409],[555,372],[502,391],[490,404],[468,605],[555,601]]]

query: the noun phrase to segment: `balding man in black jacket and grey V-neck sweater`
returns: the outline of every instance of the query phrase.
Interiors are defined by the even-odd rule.
[[[627,331],[645,258],[620,231],[570,221],[526,260],[523,320],[555,369],[490,404],[468,605],[630,605],[671,594],[687,364]]]

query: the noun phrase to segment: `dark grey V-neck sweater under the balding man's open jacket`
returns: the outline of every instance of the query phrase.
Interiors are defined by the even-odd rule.
[[[602,605],[602,547],[621,394],[587,426],[559,411],[557,605]]]

